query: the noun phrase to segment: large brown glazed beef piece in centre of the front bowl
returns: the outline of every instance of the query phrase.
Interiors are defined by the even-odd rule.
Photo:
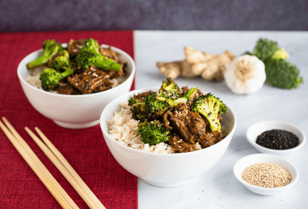
[[[164,125],[172,128],[169,120],[188,144],[198,141],[202,148],[206,148],[218,142],[219,132],[211,132],[199,113],[190,111],[186,103],[180,103],[173,113],[168,110],[164,114]]]

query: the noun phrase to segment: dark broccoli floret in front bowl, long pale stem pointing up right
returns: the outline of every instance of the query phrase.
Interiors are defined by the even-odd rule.
[[[132,117],[141,122],[146,119],[155,120],[158,116],[176,107],[179,103],[186,103],[192,100],[196,92],[197,88],[189,89],[180,98],[180,93],[177,91],[150,93],[144,98],[143,102],[132,105]]]

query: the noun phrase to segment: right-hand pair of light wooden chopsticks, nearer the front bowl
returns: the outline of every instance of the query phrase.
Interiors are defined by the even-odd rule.
[[[84,183],[80,178],[77,172],[75,172],[67,162],[61,152],[59,152],[59,150],[51,143],[43,132],[39,130],[39,128],[35,127],[35,130],[45,144],[28,127],[25,127],[25,130],[91,209],[106,209],[86,183]]]

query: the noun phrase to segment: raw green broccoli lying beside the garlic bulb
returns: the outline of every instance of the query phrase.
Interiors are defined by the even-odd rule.
[[[294,89],[303,83],[298,68],[286,61],[289,55],[277,42],[260,38],[250,54],[264,62],[266,81],[272,86]]]

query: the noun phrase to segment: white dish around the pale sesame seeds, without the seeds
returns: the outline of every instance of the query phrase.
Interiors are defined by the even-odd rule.
[[[247,183],[242,179],[242,173],[247,167],[257,163],[274,163],[282,167],[285,167],[290,172],[292,177],[290,183],[288,183],[285,186],[275,187],[275,188],[258,187],[250,183]],[[237,178],[237,180],[239,180],[247,189],[259,195],[275,195],[284,189],[292,187],[299,179],[298,169],[289,160],[286,160],[283,157],[277,155],[264,154],[264,153],[248,155],[241,158],[234,165],[233,173]]]

